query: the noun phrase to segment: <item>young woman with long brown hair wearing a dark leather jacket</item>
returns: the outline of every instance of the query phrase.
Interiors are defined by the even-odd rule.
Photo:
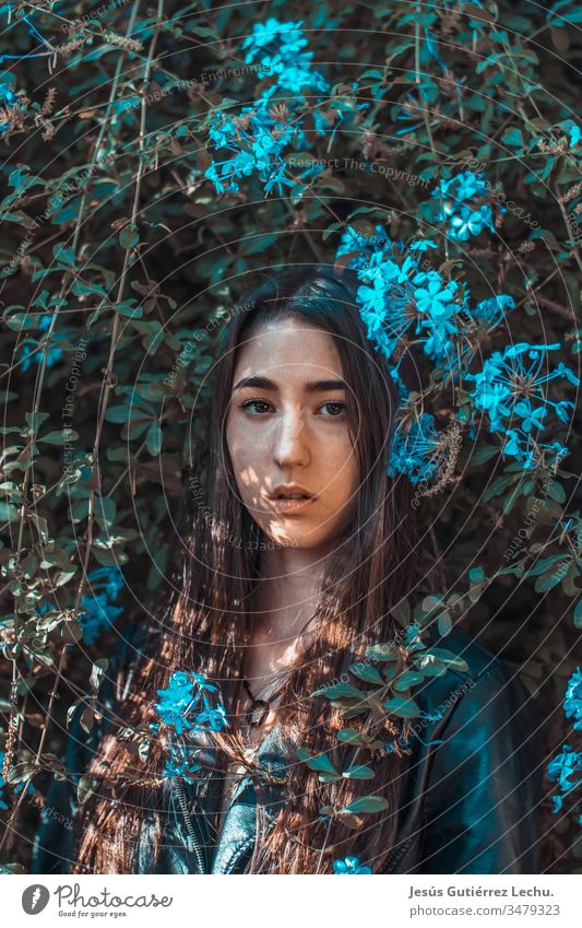
[[[33,872],[536,872],[538,719],[458,629],[425,632],[460,660],[414,692],[412,731],[385,715],[373,778],[322,783],[298,757],[349,766],[340,708],[317,691],[357,682],[370,645],[412,647],[392,608],[442,587],[414,488],[388,475],[395,387],[352,277],[273,273],[244,305],[212,371],[210,455],[188,480],[169,600],[118,648],[91,737],[74,719]],[[176,672],[218,686],[226,713],[186,732],[190,772],[161,737]],[[387,808],[321,812],[369,795]]]

